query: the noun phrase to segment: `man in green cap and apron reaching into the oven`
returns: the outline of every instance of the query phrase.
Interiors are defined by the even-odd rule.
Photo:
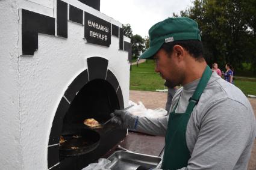
[[[197,23],[169,18],[149,29],[150,47],[140,58],[155,59],[155,71],[182,85],[166,117],[136,117],[115,111],[123,128],[166,135],[162,169],[247,169],[256,125],[239,88],[211,71],[203,57]]]

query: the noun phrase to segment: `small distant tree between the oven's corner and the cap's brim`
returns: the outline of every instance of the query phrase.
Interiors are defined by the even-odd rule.
[[[140,56],[140,52],[143,52],[145,50],[145,40],[142,38],[142,36],[136,34],[131,37],[131,48],[132,48],[132,55],[134,57]]]

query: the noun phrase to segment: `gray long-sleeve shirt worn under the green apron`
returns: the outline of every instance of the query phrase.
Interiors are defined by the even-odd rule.
[[[171,110],[180,97],[176,112],[185,112],[198,83],[199,79],[180,88]],[[137,131],[164,136],[168,118],[141,117]],[[239,88],[213,72],[187,124],[191,158],[182,169],[246,169],[255,136],[255,116],[248,99]]]

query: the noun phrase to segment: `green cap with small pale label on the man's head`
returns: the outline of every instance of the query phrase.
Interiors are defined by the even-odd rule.
[[[201,41],[198,23],[188,17],[170,17],[153,25],[149,31],[149,48],[140,58],[153,59],[164,43],[176,40]]]

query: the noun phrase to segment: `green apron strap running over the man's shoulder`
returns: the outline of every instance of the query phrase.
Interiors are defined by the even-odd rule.
[[[189,105],[187,106],[186,113],[191,114],[195,105],[198,104],[198,101],[201,97],[201,94],[203,93],[205,87],[207,86],[208,80],[211,77],[211,68],[207,65],[205,67],[204,73],[202,74],[202,78],[200,79],[198,83],[198,87],[196,87],[195,92],[193,93],[193,96],[189,99]]]

